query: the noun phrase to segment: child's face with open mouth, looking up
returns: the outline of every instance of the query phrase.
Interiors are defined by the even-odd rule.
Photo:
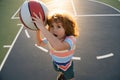
[[[50,32],[60,40],[65,38],[65,29],[62,26],[62,23],[53,22],[50,27]]]

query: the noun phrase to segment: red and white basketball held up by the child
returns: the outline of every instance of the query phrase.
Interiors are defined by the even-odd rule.
[[[25,1],[22,6],[20,7],[19,11],[19,17],[21,23],[31,29],[31,30],[38,30],[38,27],[35,23],[33,23],[32,17],[34,17],[34,14],[39,15],[39,13],[42,16],[42,20],[44,25],[46,25],[47,15],[48,15],[48,8],[42,1],[38,0],[29,0]]]

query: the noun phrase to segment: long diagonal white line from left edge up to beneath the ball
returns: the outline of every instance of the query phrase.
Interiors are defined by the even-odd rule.
[[[18,25],[20,25],[20,24],[18,24]],[[17,35],[16,35],[14,41],[12,42],[12,45],[11,45],[10,49],[8,50],[7,54],[5,55],[5,57],[4,57],[4,59],[3,59],[2,63],[1,63],[1,65],[0,65],[0,71],[2,70],[2,67],[4,66],[4,64],[5,64],[5,62],[6,62],[7,58],[8,58],[8,56],[9,56],[9,54],[10,54],[10,52],[11,52],[11,50],[12,50],[12,48],[13,48],[13,46],[14,46],[14,44],[15,44],[15,42],[16,42],[16,40],[17,40],[19,34],[20,34],[20,32],[22,31],[22,29],[23,29],[23,25],[21,24],[20,30],[18,31],[18,33],[17,33]]]

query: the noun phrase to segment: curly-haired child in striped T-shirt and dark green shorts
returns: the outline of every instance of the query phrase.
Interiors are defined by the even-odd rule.
[[[48,29],[44,23],[34,13],[34,23],[39,30],[37,40],[39,46],[49,44],[50,55],[53,60],[54,69],[61,72],[57,80],[74,80],[74,70],[72,57],[74,55],[76,37],[78,37],[78,26],[73,17],[66,12],[56,12],[48,15]],[[41,24],[43,23],[43,24]],[[42,40],[40,34],[46,39]]]

